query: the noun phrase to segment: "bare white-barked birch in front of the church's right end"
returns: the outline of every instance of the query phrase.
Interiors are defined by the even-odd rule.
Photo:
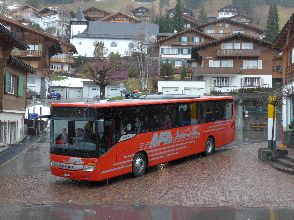
[[[153,61],[152,53],[156,47],[156,45],[153,44],[155,40],[155,36],[151,36],[141,28],[140,33],[138,33],[132,41],[133,47],[131,48],[131,53],[138,66],[141,87],[143,90],[147,89],[148,72]]]

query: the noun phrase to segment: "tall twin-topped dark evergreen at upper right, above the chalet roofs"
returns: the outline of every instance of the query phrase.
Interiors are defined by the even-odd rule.
[[[268,17],[266,19],[266,37],[265,40],[273,41],[279,33],[279,16],[276,4],[270,4]]]

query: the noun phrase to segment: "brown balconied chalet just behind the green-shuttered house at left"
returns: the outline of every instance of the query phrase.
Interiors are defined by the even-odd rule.
[[[36,76],[35,79],[41,79],[39,80],[39,85],[36,85],[36,83],[34,85],[37,86],[37,92],[40,92],[41,98],[45,98],[45,89],[48,88],[46,84],[50,81],[50,58],[63,52],[59,38],[22,25],[1,15],[0,23],[10,28],[12,33],[29,45],[30,48],[26,50],[12,50],[11,55],[37,70],[33,75]]]

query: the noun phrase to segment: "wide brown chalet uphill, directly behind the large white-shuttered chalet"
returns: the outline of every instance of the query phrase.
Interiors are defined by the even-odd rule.
[[[265,30],[245,23],[233,21],[230,18],[221,18],[198,26],[200,31],[215,38],[222,38],[235,33],[243,33],[255,38],[262,38]]]

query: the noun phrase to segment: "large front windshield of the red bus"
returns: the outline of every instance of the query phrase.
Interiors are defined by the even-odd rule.
[[[94,108],[52,107],[50,123],[50,153],[96,158]]]

